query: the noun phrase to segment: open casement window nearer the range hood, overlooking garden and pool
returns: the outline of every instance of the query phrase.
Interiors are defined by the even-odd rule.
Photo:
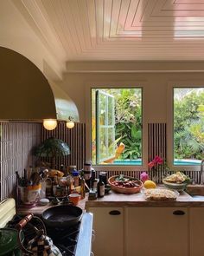
[[[92,164],[142,165],[142,89],[92,89]]]

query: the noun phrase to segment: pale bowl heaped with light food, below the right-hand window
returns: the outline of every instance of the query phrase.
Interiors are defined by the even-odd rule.
[[[183,174],[182,172],[176,172],[175,174],[171,174],[163,179],[165,187],[175,189],[177,191],[183,191],[189,182],[190,178],[188,175]]]

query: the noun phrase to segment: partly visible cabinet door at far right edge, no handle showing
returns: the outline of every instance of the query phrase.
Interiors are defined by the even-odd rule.
[[[204,208],[190,208],[190,256],[203,255],[204,252]]]

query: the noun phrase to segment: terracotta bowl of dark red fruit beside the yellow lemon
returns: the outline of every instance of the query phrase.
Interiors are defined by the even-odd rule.
[[[122,194],[134,194],[140,192],[143,182],[123,174],[112,176],[108,179],[112,190]]]

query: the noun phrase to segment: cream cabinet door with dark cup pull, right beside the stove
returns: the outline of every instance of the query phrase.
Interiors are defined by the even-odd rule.
[[[124,209],[122,207],[90,207],[93,213],[95,240],[92,252],[96,256],[124,255]]]

